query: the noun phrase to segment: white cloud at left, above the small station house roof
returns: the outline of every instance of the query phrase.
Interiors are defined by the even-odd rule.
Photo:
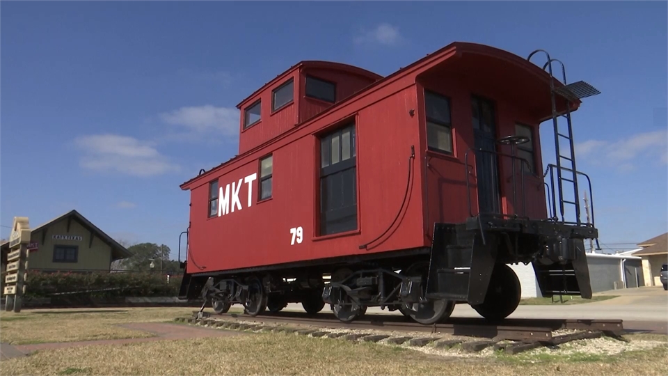
[[[79,165],[93,171],[115,171],[134,176],[161,175],[177,171],[150,143],[117,134],[80,136],[74,144],[84,151]]]

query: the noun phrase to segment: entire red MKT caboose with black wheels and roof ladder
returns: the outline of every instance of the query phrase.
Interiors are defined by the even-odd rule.
[[[590,298],[584,240],[598,230],[593,212],[580,219],[591,183],[571,113],[598,93],[543,50],[469,42],[387,77],[301,61],[238,104],[238,155],[181,185],[180,298],[248,315],[329,304],[344,322],[379,306],[422,324],[470,304],[502,320],[517,263],[545,297]],[[557,158],[543,171],[546,122]]]

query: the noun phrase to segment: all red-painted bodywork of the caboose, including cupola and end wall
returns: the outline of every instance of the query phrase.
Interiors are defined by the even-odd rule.
[[[336,104],[318,104],[303,97],[307,72],[337,83]],[[288,77],[299,81],[294,86],[296,100],[270,114],[271,91]],[[525,181],[527,214],[533,218],[546,217],[537,126],[551,118],[551,107],[549,76],[540,67],[493,47],[458,42],[379,78],[349,65],[301,63],[239,104],[242,125],[243,109],[257,98],[263,102],[262,122],[239,136],[239,157],[182,185],[182,189],[191,190],[186,272],[430,246],[434,222],[462,222],[469,217],[464,155],[473,146],[472,94],[493,100],[497,137],[514,134],[516,121],[535,127],[534,164],[539,176]],[[454,155],[427,151],[424,88],[450,97]],[[356,122],[358,228],[320,237],[317,136],[349,120]],[[415,146],[415,158],[409,162],[411,146]],[[510,153],[502,147],[498,151]],[[269,200],[258,202],[259,159],[270,153],[273,194]],[[474,159],[469,158],[469,164],[474,164]],[[413,175],[397,223],[367,249],[359,249],[360,244],[381,235],[397,216],[404,200],[409,163]],[[243,179],[253,173],[257,173],[257,180],[253,182],[248,207],[248,185]],[[511,197],[511,182],[507,181],[511,176],[510,164],[500,166],[500,176],[505,181],[503,210],[513,213],[516,205]],[[207,217],[208,183],[214,179],[218,179],[223,189],[228,183],[232,189],[232,182],[236,185],[241,180],[241,210]],[[471,175],[469,181],[475,215],[475,177]],[[518,179],[518,188],[519,182]],[[303,242],[291,245],[290,229],[298,226],[303,228]]]

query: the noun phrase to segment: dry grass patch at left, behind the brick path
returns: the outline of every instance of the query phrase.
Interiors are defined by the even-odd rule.
[[[121,338],[154,334],[118,327],[129,322],[164,322],[197,308],[81,308],[0,313],[0,340],[14,345]]]

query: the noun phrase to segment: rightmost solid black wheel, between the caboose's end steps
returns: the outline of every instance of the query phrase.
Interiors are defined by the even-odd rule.
[[[472,308],[487,320],[503,320],[516,310],[521,294],[520,280],[513,269],[497,264],[489,279],[485,301],[472,305]]]

